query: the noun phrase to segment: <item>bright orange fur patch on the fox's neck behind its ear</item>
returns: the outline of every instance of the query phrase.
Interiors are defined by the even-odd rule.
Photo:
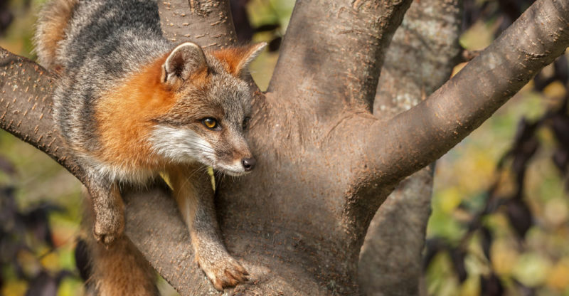
[[[96,117],[104,149],[98,159],[127,170],[156,170],[161,166],[148,139],[152,120],[176,102],[175,94],[160,81],[166,57],[156,59],[100,98]]]

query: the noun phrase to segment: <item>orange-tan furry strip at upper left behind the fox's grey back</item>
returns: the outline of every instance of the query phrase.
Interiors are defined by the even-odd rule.
[[[65,28],[73,16],[77,2],[78,0],[50,0],[41,9],[33,41],[38,63],[43,67],[59,70],[58,46],[65,38]]]

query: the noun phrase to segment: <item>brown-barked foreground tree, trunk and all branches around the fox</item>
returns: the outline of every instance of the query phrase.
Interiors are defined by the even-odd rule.
[[[172,24],[164,31],[183,31],[188,17],[188,28],[217,33],[197,38],[198,32],[188,32],[184,38],[204,46],[235,40],[230,25],[189,25],[208,17],[229,20],[228,1],[168,3],[170,11],[188,12],[165,16],[162,6],[162,17]],[[569,44],[569,0],[536,1],[433,95],[400,115],[378,119],[371,106],[383,56],[409,4],[297,2],[270,90],[256,93],[247,137],[257,168],[218,184],[225,243],[252,273],[250,284],[226,290],[228,295],[360,293],[360,248],[388,194],[466,137]],[[209,13],[202,14],[206,7]],[[0,58],[6,115],[1,126],[84,181],[65,149],[53,148],[58,142],[49,116],[53,80],[10,53],[3,51]],[[216,294],[193,263],[186,228],[168,192],[156,186],[125,199],[127,236],[154,268],[182,295]],[[393,220],[385,215],[384,221]]]

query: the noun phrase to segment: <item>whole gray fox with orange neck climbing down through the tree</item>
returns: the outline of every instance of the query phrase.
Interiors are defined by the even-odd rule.
[[[239,176],[255,166],[243,137],[251,94],[241,78],[265,43],[216,51],[173,46],[162,36],[156,0],[48,1],[35,43],[38,62],[59,75],[53,117],[89,176],[97,241],[121,254],[112,250],[125,244],[117,243],[124,228],[119,185],[165,173],[196,261],[216,289],[247,280],[220,239],[213,191],[204,189],[209,180],[192,173],[212,166]],[[105,276],[95,275],[102,295],[142,295],[105,294],[118,289],[103,287]]]

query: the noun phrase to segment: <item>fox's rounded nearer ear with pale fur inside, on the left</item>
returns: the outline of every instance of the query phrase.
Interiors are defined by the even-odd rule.
[[[193,73],[207,68],[206,56],[200,46],[193,42],[181,43],[174,48],[162,65],[162,83],[180,88]]]

